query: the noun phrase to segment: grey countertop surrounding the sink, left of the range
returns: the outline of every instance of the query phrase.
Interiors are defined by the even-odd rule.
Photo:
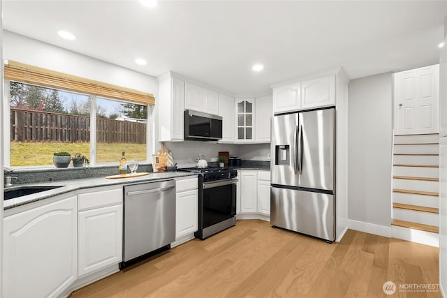
[[[185,176],[196,176],[197,173],[190,172],[149,172],[149,175],[132,177],[132,178],[122,178],[122,179],[105,179],[105,177],[96,178],[86,178],[86,179],[70,179],[70,180],[59,180],[59,181],[48,181],[30,184],[18,184],[16,186],[11,186],[5,188],[5,191],[26,188],[28,186],[61,186],[58,188],[51,189],[49,191],[42,191],[41,193],[34,193],[31,195],[23,195],[19,198],[14,198],[10,200],[3,201],[3,209],[11,209],[13,207],[21,206],[24,204],[29,204],[31,202],[36,202],[40,200],[45,200],[47,198],[54,197],[56,195],[62,195],[64,193],[69,193],[71,191],[77,191],[84,188],[95,188],[101,186],[112,186],[112,185],[125,185],[125,184],[135,184],[145,181],[157,181],[174,179],[177,177]]]

